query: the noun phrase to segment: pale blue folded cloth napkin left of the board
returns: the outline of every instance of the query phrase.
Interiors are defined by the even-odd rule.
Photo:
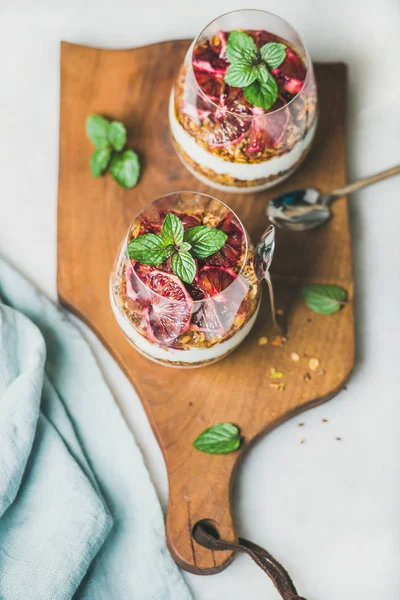
[[[1,259],[0,598],[191,598],[89,347]]]

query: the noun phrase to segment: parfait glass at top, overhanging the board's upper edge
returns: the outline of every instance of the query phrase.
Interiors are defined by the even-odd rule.
[[[212,21],[186,54],[169,121],[183,164],[210,186],[254,192],[289,177],[317,124],[313,67],[298,33],[260,10]]]

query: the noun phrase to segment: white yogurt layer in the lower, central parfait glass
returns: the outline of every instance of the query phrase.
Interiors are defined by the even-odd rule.
[[[251,319],[228,340],[224,342],[219,342],[218,344],[215,344],[215,346],[211,346],[211,348],[188,348],[186,350],[178,350],[177,348],[158,346],[157,344],[149,342],[148,340],[146,340],[146,338],[140,335],[140,333],[138,333],[132,326],[128,317],[121,313],[119,308],[116,306],[112,289],[110,290],[110,292],[111,306],[115,318],[117,319],[119,326],[125,333],[128,340],[133,344],[133,346],[137,350],[142,352],[147,358],[150,358],[151,360],[154,360],[156,362],[168,361],[171,364],[171,366],[174,366],[174,363],[185,363],[188,366],[197,366],[195,363],[217,360],[221,356],[224,356],[224,354],[231,352],[250,333],[250,330],[255,323],[260,308],[259,303],[257,306],[257,310],[255,311]],[[179,364],[177,366],[179,366]]]

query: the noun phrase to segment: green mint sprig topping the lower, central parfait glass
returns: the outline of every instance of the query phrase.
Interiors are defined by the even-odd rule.
[[[227,239],[220,229],[197,225],[186,231],[182,221],[168,213],[160,234],[145,233],[131,240],[128,254],[144,265],[157,267],[171,257],[172,270],[185,283],[196,277],[197,265],[194,257],[206,258],[221,250]]]

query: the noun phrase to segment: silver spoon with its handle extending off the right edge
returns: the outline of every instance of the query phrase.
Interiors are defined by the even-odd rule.
[[[400,174],[400,165],[350,183],[330,194],[321,194],[315,188],[285,192],[268,202],[267,215],[271,223],[281,229],[289,231],[314,229],[329,221],[332,216],[330,205],[337,198],[398,174]]]

